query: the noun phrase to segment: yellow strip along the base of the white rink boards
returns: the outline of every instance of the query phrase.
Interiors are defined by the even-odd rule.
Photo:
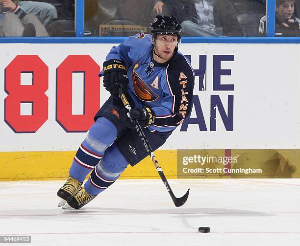
[[[66,179],[75,151],[0,152],[0,181]],[[227,154],[226,154],[227,153]],[[228,154],[229,153],[229,154]],[[155,155],[168,179],[238,179],[238,178],[300,178],[300,150],[157,150]],[[184,165],[183,157],[237,157],[231,169],[261,169],[262,173],[184,173],[183,168],[223,170],[224,163],[192,162]],[[159,179],[150,159],[146,157],[134,167],[130,165],[121,179]]]

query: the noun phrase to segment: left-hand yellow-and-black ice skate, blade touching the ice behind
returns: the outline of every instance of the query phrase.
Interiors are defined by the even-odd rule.
[[[60,198],[58,206],[61,207],[70,201],[72,197],[78,192],[82,182],[69,176],[66,183],[58,190],[57,196]]]

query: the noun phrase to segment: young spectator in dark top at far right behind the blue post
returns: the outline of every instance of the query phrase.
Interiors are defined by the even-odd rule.
[[[276,0],[275,36],[299,37],[300,20],[294,16],[295,0]],[[266,35],[266,16],[260,19],[259,33]]]

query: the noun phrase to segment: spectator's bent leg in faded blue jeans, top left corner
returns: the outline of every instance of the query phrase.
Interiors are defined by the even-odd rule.
[[[27,14],[35,15],[43,25],[57,18],[56,8],[47,2],[20,0],[0,0],[0,2],[9,4],[12,10],[20,6]]]

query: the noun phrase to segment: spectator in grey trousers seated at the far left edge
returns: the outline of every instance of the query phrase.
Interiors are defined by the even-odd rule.
[[[11,0],[0,0],[0,5],[5,9],[0,13],[0,37],[49,36],[35,15],[27,14]]]

